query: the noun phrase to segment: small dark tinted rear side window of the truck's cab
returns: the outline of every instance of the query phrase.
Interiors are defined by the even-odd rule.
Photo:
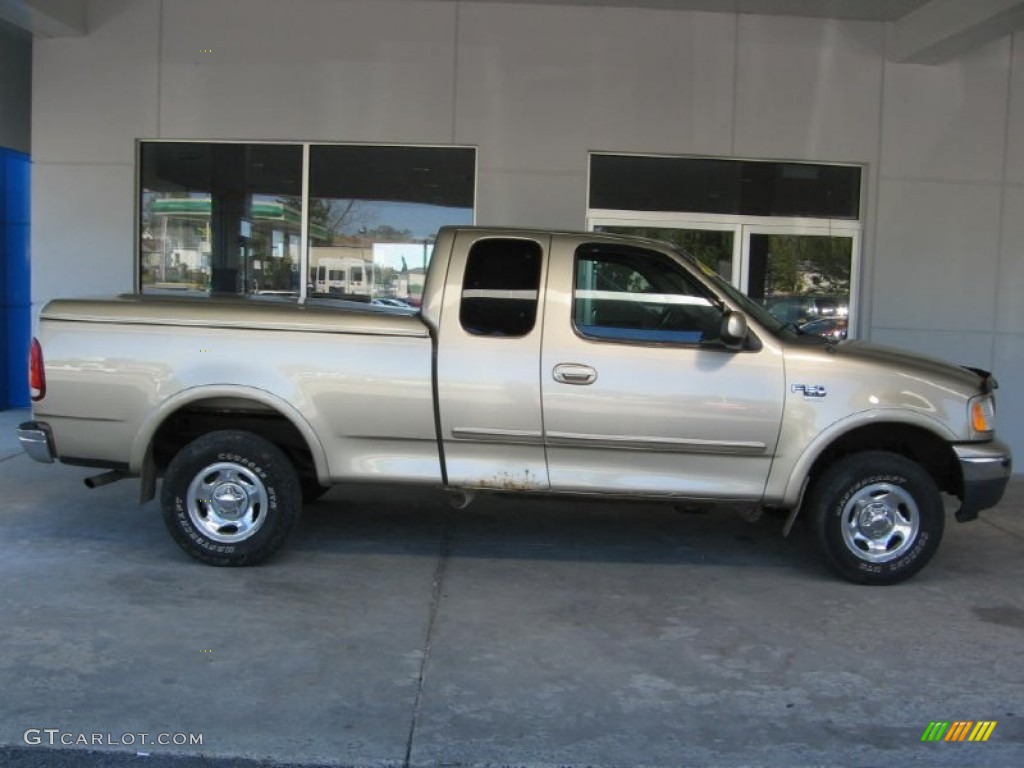
[[[525,336],[537,323],[542,251],[531,240],[493,238],[469,252],[459,322],[474,336]]]

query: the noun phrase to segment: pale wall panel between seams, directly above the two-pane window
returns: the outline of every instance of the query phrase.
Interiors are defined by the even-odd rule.
[[[455,4],[164,3],[161,135],[452,140]]]

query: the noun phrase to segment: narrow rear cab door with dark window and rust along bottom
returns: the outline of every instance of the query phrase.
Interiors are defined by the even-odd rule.
[[[538,364],[550,241],[543,234],[456,234],[437,343],[450,485],[548,487]]]

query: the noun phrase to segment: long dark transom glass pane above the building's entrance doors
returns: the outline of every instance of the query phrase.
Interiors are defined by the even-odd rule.
[[[590,207],[857,219],[860,168],[709,158],[592,155]]]

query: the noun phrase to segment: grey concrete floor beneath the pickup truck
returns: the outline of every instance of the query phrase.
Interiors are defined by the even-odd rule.
[[[839,581],[774,519],[369,487],[220,569],[136,481],[22,455],[26,416],[0,413],[0,748],[58,728],[201,733],[103,749],[231,765],[1024,764],[1024,479],[892,588]],[[922,743],[934,720],[997,726]]]

